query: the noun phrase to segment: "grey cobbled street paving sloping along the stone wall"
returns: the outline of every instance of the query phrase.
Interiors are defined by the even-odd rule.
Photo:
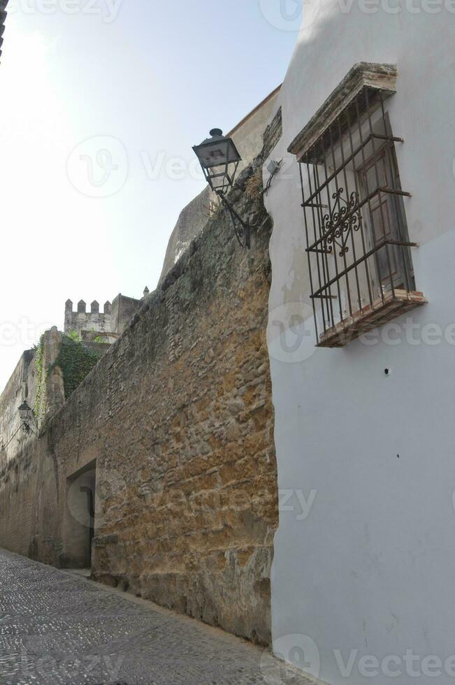
[[[266,651],[0,550],[2,685],[312,685]]]

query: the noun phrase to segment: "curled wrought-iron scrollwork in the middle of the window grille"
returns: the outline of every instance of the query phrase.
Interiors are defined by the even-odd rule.
[[[344,188],[339,188],[333,193],[335,200],[331,214],[323,218],[324,236],[326,236],[326,249],[332,252],[334,245],[340,248],[340,257],[349,252],[347,240],[351,231],[359,231],[362,225],[362,216],[359,208],[359,194],[352,192],[348,200],[342,197]],[[344,203],[344,204],[343,204]]]

